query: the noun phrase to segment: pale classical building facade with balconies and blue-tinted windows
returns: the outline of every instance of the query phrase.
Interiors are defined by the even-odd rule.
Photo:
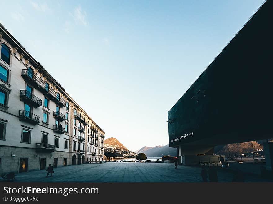
[[[0,173],[103,162],[104,131],[0,24]]]

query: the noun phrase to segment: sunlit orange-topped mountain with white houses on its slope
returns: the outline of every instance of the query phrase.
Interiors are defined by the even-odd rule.
[[[137,153],[129,151],[116,138],[108,138],[104,140],[105,152],[113,152],[117,157],[137,157]]]

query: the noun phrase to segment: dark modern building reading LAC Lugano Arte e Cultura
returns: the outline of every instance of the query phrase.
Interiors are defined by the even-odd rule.
[[[272,170],[272,1],[266,1],[168,112],[179,162],[214,146],[264,139]]]

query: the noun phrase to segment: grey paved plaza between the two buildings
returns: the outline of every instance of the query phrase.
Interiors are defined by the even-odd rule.
[[[164,163],[82,164],[54,168],[52,177],[45,170],[16,174],[15,182],[202,182],[200,167]],[[230,182],[231,172],[218,170],[219,182]],[[246,182],[272,182],[258,176],[246,175]]]

